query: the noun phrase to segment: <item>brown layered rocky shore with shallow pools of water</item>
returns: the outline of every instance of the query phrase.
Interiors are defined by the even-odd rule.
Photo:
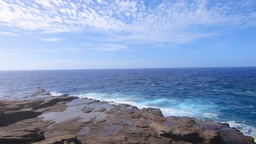
[[[229,124],[68,94],[0,100],[0,143],[254,143]]]

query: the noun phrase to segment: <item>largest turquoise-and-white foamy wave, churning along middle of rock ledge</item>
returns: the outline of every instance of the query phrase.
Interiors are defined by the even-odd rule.
[[[75,95],[75,94],[74,94]],[[75,95],[81,98],[91,98],[100,101],[113,101],[119,104],[129,104],[142,108],[161,109],[164,116],[189,116],[216,119],[218,113],[214,112],[215,105],[201,104],[200,101],[186,100],[179,101],[176,99],[143,99],[137,95],[127,95],[121,93],[85,93]],[[211,111],[211,112],[209,112]]]

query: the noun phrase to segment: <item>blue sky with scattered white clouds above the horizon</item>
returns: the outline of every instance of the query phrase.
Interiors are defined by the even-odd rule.
[[[255,66],[255,0],[0,0],[0,70]]]

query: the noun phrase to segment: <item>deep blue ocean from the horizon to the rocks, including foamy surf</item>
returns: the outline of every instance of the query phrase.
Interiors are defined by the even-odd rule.
[[[158,107],[165,116],[228,122],[256,137],[256,68],[0,71],[0,99],[42,86],[53,95]]]

